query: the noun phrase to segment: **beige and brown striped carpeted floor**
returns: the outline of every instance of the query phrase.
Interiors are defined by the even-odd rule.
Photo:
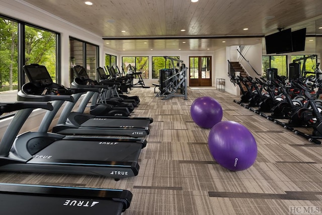
[[[141,152],[139,174],[115,181],[89,175],[0,173],[0,182],[127,189],[133,193],[124,214],[292,214],[322,212],[322,146],[233,102],[215,89],[188,89],[162,100],[153,88],[135,88],[141,104],[133,116],[154,119]],[[245,125],[258,145],[255,164],[232,172],[208,150],[209,129],[190,117],[192,102],[211,96],[223,108],[223,120]],[[231,131],[234,132],[234,131]]]

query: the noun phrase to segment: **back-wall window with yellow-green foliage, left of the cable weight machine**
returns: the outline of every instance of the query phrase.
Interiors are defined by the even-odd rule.
[[[125,73],[129,70],[130,66],[134,66],[136,72],[142,73],[142,79],[149,78],[149,57],[122,57],[122,66]]]

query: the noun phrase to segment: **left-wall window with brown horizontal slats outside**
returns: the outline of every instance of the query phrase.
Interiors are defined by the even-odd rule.
[[[99,47],[88,42],[69,37],[69,65],[72,68],[75,65],[83,66],[90,79],[96,80],[96,68],[99,64]],[[69,81],[75,78],[72,69],[70,69]]]

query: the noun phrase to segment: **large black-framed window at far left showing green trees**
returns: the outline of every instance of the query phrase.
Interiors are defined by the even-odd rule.
[[[0,91],[3,101],[16,101],[17,91],[28,82],[22,66],[45,65],[59,84],[59,34],[9,17],[0,17]]]

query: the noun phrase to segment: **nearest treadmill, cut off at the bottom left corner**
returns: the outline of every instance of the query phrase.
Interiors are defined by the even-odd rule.
[[[0,103],[0,115],[24,108],[53,110],[46,102]],[[3,214],[121,214],[131,203],[132,193],[122,189],[0,183]],[[17,204],[19,202],[19,204]],[[37,204],[38,208],[30,205]],[[38,213],[37,213],[38,212]]]

